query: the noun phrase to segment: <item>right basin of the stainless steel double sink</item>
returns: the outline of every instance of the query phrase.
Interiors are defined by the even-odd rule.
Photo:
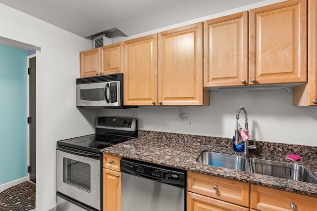
[[[317,178],[305,167],[278,161],[250,158],[250,171],[295,181],[317,183]]]

